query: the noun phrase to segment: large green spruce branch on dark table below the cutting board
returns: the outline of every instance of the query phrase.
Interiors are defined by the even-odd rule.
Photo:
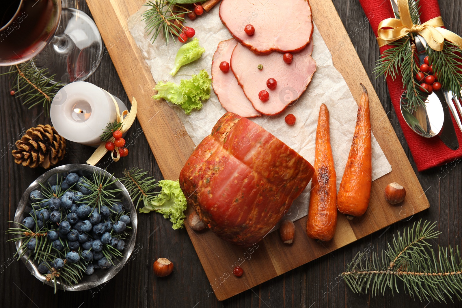
[[[431,249],[429,240],[440,234],[435,230],[436,223],[420,220],[412,228],[405,228],[403,234],[393,236],[388,249],[382,250],[380,256],[370,256],[362,252],[356,254],[341,273],[348,287],[354,293],[371,292],[372,295],[385,293],[405,293],[420,301],[446,302],[456,297],[462,300],[462,258],[456,247]]]

